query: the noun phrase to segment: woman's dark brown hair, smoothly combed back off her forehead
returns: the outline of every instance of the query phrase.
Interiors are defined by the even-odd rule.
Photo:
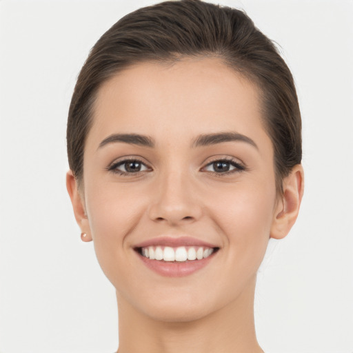
[[[103,82],[141,61],[219,57],[256,83],[263,120],[274,146],[277,191],[301,163],[301,115],[292,74],[274,44],[241,10],[200,0],[165,1],[120,19],[97,41],[77,79],[68,114],[68,159],[83,179],[83,150],[92,108]]]

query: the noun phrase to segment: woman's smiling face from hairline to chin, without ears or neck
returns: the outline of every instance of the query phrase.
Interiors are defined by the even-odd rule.
[[[256,88],[219,59],[139,63],[105,82],[83,199],[118,297],[188,321],[251,293],[279,212],[273,157]],[[212,254],[191,260],[201,247]]]

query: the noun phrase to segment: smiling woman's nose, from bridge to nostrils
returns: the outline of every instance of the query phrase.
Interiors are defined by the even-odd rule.
[[[152,221],[177,226],[201,218],[201,202],[191,179],[185,172],[170,172],[156,180],[148,210]]]

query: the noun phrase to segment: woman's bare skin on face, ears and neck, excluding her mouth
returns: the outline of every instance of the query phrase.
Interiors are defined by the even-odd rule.
[[[236,138],[195,143],[224,133]],[[112,134],[154,145],[108,141]],[[117,291],[118,352],[263,352],[256,271],[270,237],[283,238],[296,220],[303,169],[276,193],[257,88],[219,59],[134,65],[99,90],[83,168],[83,188],[68,172],[68,192],[83,240],[94,241]],[[219,249],[187,276],[156,273],[136,251],[141,241],[184,235]]]

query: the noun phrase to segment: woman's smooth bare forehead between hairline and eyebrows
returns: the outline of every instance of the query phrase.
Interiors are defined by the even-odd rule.
[[[103,83],[90,135],[99,143],[118,132],[157,140],[227,130],[263,134],[258,93],[221,59],[138,63]]]

